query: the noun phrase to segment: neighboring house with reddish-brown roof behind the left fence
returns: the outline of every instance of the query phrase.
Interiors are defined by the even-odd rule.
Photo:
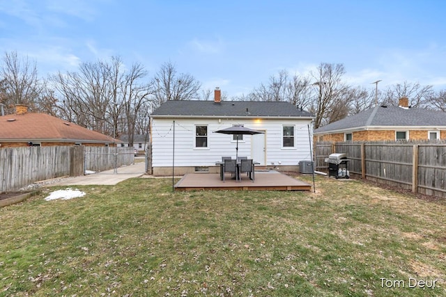
[[[116,140],[52,115],[28,113],[20,104],[15,114],[0,116],[0,148],[49,145],[115,146]]]

